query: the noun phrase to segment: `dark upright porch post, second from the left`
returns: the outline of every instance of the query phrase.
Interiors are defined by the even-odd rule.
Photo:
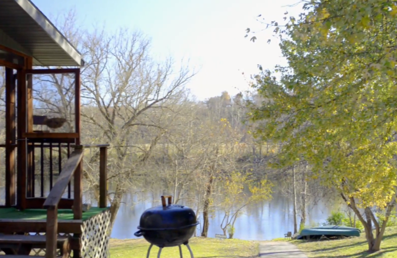
[[[26,208],[26,168],[27,168],[27,156],[26,156],[26,138],[22,135],[26,130],[26,73],[25,69],[18,69],[18,90],[17,90],[17,137],[18,137],[18,149],[17,149],[17,207],[19,209]]]

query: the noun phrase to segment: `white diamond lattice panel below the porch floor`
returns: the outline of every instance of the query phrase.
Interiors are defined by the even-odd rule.
[[[83,222],[81,226],[81,258],[108,258],[110,210]]]

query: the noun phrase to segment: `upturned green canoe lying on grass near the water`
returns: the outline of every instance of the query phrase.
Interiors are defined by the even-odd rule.
[[[358,228],[344,227],[344,226],[322,226],[314,228],[305,228],[296,237],[296,239],[310,239],[325,237],[359,237],[361,230]]]

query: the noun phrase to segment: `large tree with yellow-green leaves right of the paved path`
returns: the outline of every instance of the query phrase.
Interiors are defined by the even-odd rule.
[[[305,1],[299,17],[271,24],[288,66],[260,66],[253,87],[267,101],[249,103],[266,123],[256,135],[283,143],[274,165],[308,161],[356,213],[370,252],[396,203],[396,15],[390,0]]]

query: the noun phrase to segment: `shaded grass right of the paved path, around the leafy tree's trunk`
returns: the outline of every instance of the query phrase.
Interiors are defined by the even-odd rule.
[[[358,238],[320,242],[293,240],[290,243],[298,246],[310,258],[397,258],[397,227],[386,229],[381,251],[373,254],[367,253],[365,233]]]

